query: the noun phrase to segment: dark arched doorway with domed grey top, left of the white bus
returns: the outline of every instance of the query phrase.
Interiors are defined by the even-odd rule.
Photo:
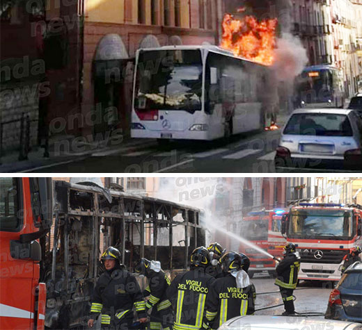
[[[129,131],[130,101],[125,92],[123,72],[129,56],[118,34],[100,40],[93,63],[95,122],[93,132],[111,133],[116,128]]]

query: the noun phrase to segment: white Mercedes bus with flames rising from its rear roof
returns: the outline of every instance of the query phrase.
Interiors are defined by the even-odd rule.
[[[132,138],[214,140],[263,129],[267,72],[216,46],[139,49]]]

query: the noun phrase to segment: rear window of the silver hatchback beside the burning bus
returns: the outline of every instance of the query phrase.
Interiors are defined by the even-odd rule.
[[[346,115],[329,113],[297,113],[292,115],[284,134],[318,136],[352,136],[352,127]]]

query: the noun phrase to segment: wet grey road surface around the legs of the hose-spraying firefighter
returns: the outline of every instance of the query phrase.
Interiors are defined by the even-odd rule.
[[[255,309],[258,310],[268,306],[283,304],[279,292],[259,295],[261,292],[274,292],[279,290],[278,286],[274,285],[274,279],[270,278],[267,272],[255,274],[251,282],[254,284],[257,292]],[[294,296],[297,298],[294,301],[295,311],[297,313],[304,313],[305,315],[308,313],[311,313],[310,315],[313,315],[313,313],[324,314],[331,290],[331,282],[301,281],[297,290],[294,290]],[[283,311],[284,307],[278,306],[276,308],[256,311],[255,315],[281,315]],[[324,318],[324,315],[313,317]]]

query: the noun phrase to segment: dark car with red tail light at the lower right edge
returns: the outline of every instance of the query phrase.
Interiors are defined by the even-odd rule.
[[[343,273],[331,291],[325,317],[362,323],[362,263],[350,265]]]

